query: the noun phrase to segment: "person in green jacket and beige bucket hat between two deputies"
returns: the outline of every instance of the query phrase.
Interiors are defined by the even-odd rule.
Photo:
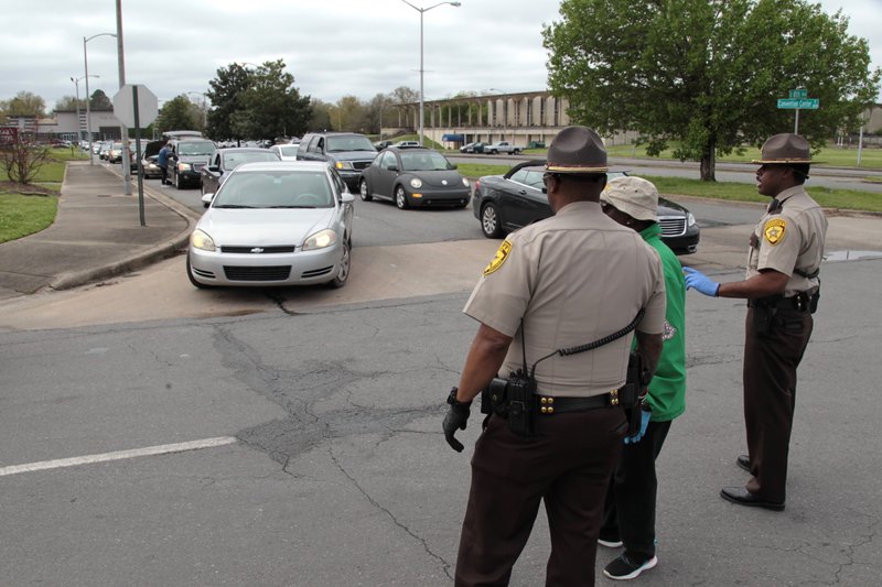
[[[658,191],[652,182],[619,177],[609,183],[600,199],[610,218],[639,232],[646,244],[658,252],[665,272],[667,311],[662,357],[649,382],[641,431],[625,438],[610,482],[599,540],[603,546],[625,547],[603,574],[613,579],[633,579],[658,563],[655,459],[671,421],[686,410],[686,283],[680,262],[662,241]]]

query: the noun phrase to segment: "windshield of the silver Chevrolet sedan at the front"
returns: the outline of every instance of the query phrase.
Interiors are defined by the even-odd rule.
[[[333,208],[334,193],[319,171],[245,171],[224,182],[212,207]]]

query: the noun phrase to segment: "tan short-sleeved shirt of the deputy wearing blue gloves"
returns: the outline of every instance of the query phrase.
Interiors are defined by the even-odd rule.
[[[794,270],[810,274],[820,267],[827,217],[802,185],[785,189],[776,199],[782,207],[766,213],[753,230],[746,276],[756,275],[761,269],[774,269],[790,278],[785,297],[814,292],[818,278],[808,279]]]

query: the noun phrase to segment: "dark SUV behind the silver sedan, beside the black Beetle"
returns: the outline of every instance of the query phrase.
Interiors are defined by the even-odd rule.
[[[298,161],[327,161],[352,193],[358,191],[362,170],[375,156],[377,150],[370,139],[356,132],[312,132],[301,139],[297,151]]]

